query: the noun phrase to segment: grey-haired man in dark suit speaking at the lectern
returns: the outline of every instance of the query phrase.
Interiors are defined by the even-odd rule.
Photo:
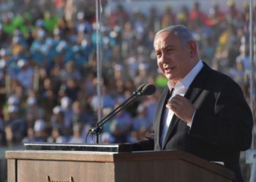
[[[154,49],[168,83],[157,104],[154,132],[134,149],[187,151],[224,162],[236,181],[244,181],[239,156],[251,145],[253,121],[241,88],[200,60],[192,33],[183,25],[159,31]]]

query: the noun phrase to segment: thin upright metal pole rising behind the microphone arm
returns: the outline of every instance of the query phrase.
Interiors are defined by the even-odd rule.
[[[97,39],[97,100],[98,100],[98,121],[102,119],[102,50],[100,41],[101,29],[101,0],[96,1],[96,39]],[[97,143],[99,143],[99,135],[97,135]]]

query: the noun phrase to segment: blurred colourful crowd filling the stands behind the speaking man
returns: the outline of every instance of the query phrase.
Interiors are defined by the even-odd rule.
[[[151,131],[154,107],[167,80],[157,68],[154,33],[176,23],[192,29],[200,58],[233,77],[249,102],[249,4],[225,11],[196,2],[164,11],[128,12],[102,1],[102,108],[97,98],[97,25],[94,1],[1,1],[0,146],[24,142],[95,143],[97,123],[140,84],[157,86],[104,125],[102,143],[126,143]],[[255,17],[254,17],[255,18]],[[256,64],[256,63],[255,63]],[[256,74],[255,74],[256,80]],[[255,111],[256,114],[256,111]],[[87,139],[87,141],[86,141]]]

